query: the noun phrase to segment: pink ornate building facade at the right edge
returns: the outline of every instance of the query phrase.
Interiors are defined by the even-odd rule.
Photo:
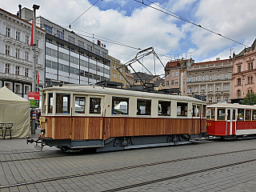
[[[239,102],[247,93],[256,93],[256,39],[252,46],[233,55],[233,100]]]

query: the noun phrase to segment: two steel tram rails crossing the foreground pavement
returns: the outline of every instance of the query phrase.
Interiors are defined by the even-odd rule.
[[[158,165],[162,165],[162,164],[166,164],[166,163],[182,162],[182,161],[192,160],[192,159],[197,159],[197,158],[208,158],[208,157],[214,157],[214,156],[223,155],[223,154],[242,153],[242,152],[252,151],[252,150],[256,150],[256,148],[249,149],[249,150],[236,150],[236,151],[230,151],[230,152],[218,153],[218,154],[205,154],[205,155],[200,155],[200,156],[195,156],[195,157],[190,157],[190,158],[178,158],[178,159],[169,160],[169,161],[152,162],[152,163],[146,163],[146,164],[141,164],[141,165],[137,165],[137,166],[119,167],[119,168],[110,169],[110,170],[98,170],[98,171],[94,171],[94,172],[90,172],[90,173],[83,173],[83,174],[71,174],[71,175],[66,175],[66,176],[62,176],[62,177],[47,178],[47,179],[42,179],[42,180],[33,181],[33,182],[21,182],[21,183],[6,185],[6,186],[0,186],[0,190],[5,189],[5,188],[10,188],[10,187],[15,187],[15,186],[26,186],[26,185],[42,183],[42,182],[53,182],[53,181],[58,181],[58,180],[62,180],[62,179],[67,179],[67,178],[80,178],[80,177],[86,177],[86,176],[96,175],[96,174],[106,174],[106,173],[111,173],[111,172],[116,172],[116,171],[121,171],[121,170],[131,170],[131,169],[142,168],[142,167],[147,167],[147,166],[158,166]],[[162,182],[162,181],[166,181],[166,180],[170,180],[170,179],[174,179],[174,178],[181,178],[181,177],[189,176],[191,174],[203,173],[203,172],[210,171],[210,170],[218,170],[218,169],[229,167],[229,166],[236,166],[236,165],[244,164],[247,162],[255,162],[255,161],[256,161],[256,158],[248,160],[248,161],[234,162],[234,163],[226,164],[223,166],[215,166],[215,167],[211,167],[208,169],[196,170],[196,171],[192,171],[192,172],[189,172],[186,174],[178,174],[178,175],[167,177],[167,178],[156,179],[156,180],[152,180],[150,182],[141,182],[141,183],[138,183],[135,185],[123,186],[123,187],[115,188],[113,190],[106,190],[106,191],[118,191],[118,190],[134,188],[137,186],[145,186],[145,185],[149,185],[154,182]]]

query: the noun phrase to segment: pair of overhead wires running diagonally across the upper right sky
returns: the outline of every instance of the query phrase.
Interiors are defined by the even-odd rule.
[[[145,5],[145,6],[149,6],[150,8],[153,8],[154,10],[158,10],[158,11],[164,13],[164,14],[169,14],[170,16],[172,16],[172,17],[174,17],[174,18],[178,18],[178,19],[180,19],[180,20],[182,20],[182,21],[184,21],[184,22],[189,22],[190,24],[192,24],[192,25],[194,25],[194,26],[198,26],[198,27],[202,28],[203,30],[207,30],[207,31],[209,31],[210,33],[217,34],[218,36],[220,36],[220,37],[222,37],[222,38],[226,38],[226,39],[230,40],[231,42],[236,42],[236,43],[238,43],[238,44],[240,44],[240,45],[242,45],[242,46],[246,46],[245,44],[242,44],[241,42],[235,41],[234,39],[231,39],[231,38],[227,38],[226,36],[223,36],[222,34],[218,34],[217,32],[214,32],[213,30],[209,30],[209,29],[207,29],[206,27],[203,27],[203,26],[201,26],[201,25],[198,25],[198,24],[196,24],[196,23],[194,23],[194,22],[190,22],[188,19],[182,18],[182,17],[179,16],[178,14],[174,14],[174,13],[171,12],[170,10],[166,10],[166,9],[163,8],[162,6],[158,6],[158,5],[157,5],[156,3],[154,3],[154,2],[151,2],[151,3],[154,4],[155,6],[158,6],[158,7],[161,8],[162,10],[159,10],[158,8],[156,8],[156,7],[154,7],[154,6],[150,6],[150,5],[146,4],[143,0],[142,0],[142,2],[140,2],[140,1],[138,1],[138,0],[134,0],[134,1],[135,1],[135,2],[139,2],[139,3],[141,3],[141,4]],[[150,2],[150,0],[146,0],[146,1]],[[167,12],[164,11],[164,10],[168,11],[169,13],[167,13]],[[246,46],[246,47],[249,47],[249,46]]]

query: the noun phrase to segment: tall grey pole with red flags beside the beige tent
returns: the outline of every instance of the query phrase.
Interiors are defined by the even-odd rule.
[[[34,17],[33,17],[33,46],[32,46],[32,50],[33,50],[33,71],[32,71],[32,91],[35,92],[35,86],[36,86],[36,78],[35,78],[35,75],[36,75],[36,72],[35,72],[35,66],[36,66],[36,54],[35,54],[35,48],[36,48],[36,40],[35,40],[35,29],[36,29],[36,21],[35,21],[35,10],[39,10],[39,7],[38,5],[33,5],[33,9],[34,9]],[[34,110],[34,108],[32,109]],[[35,128],[36,128],[36,125],[35,125],[35,119],[32,119],[32,130],[31,130],[31,134],[35,134]]]

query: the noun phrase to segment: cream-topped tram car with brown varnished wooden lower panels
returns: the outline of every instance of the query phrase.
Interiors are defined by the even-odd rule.
[[[38,139],[62,150],[175,145],[206,134],[206,103],[102,86],[54,86],[42,90],[40,120]]]

